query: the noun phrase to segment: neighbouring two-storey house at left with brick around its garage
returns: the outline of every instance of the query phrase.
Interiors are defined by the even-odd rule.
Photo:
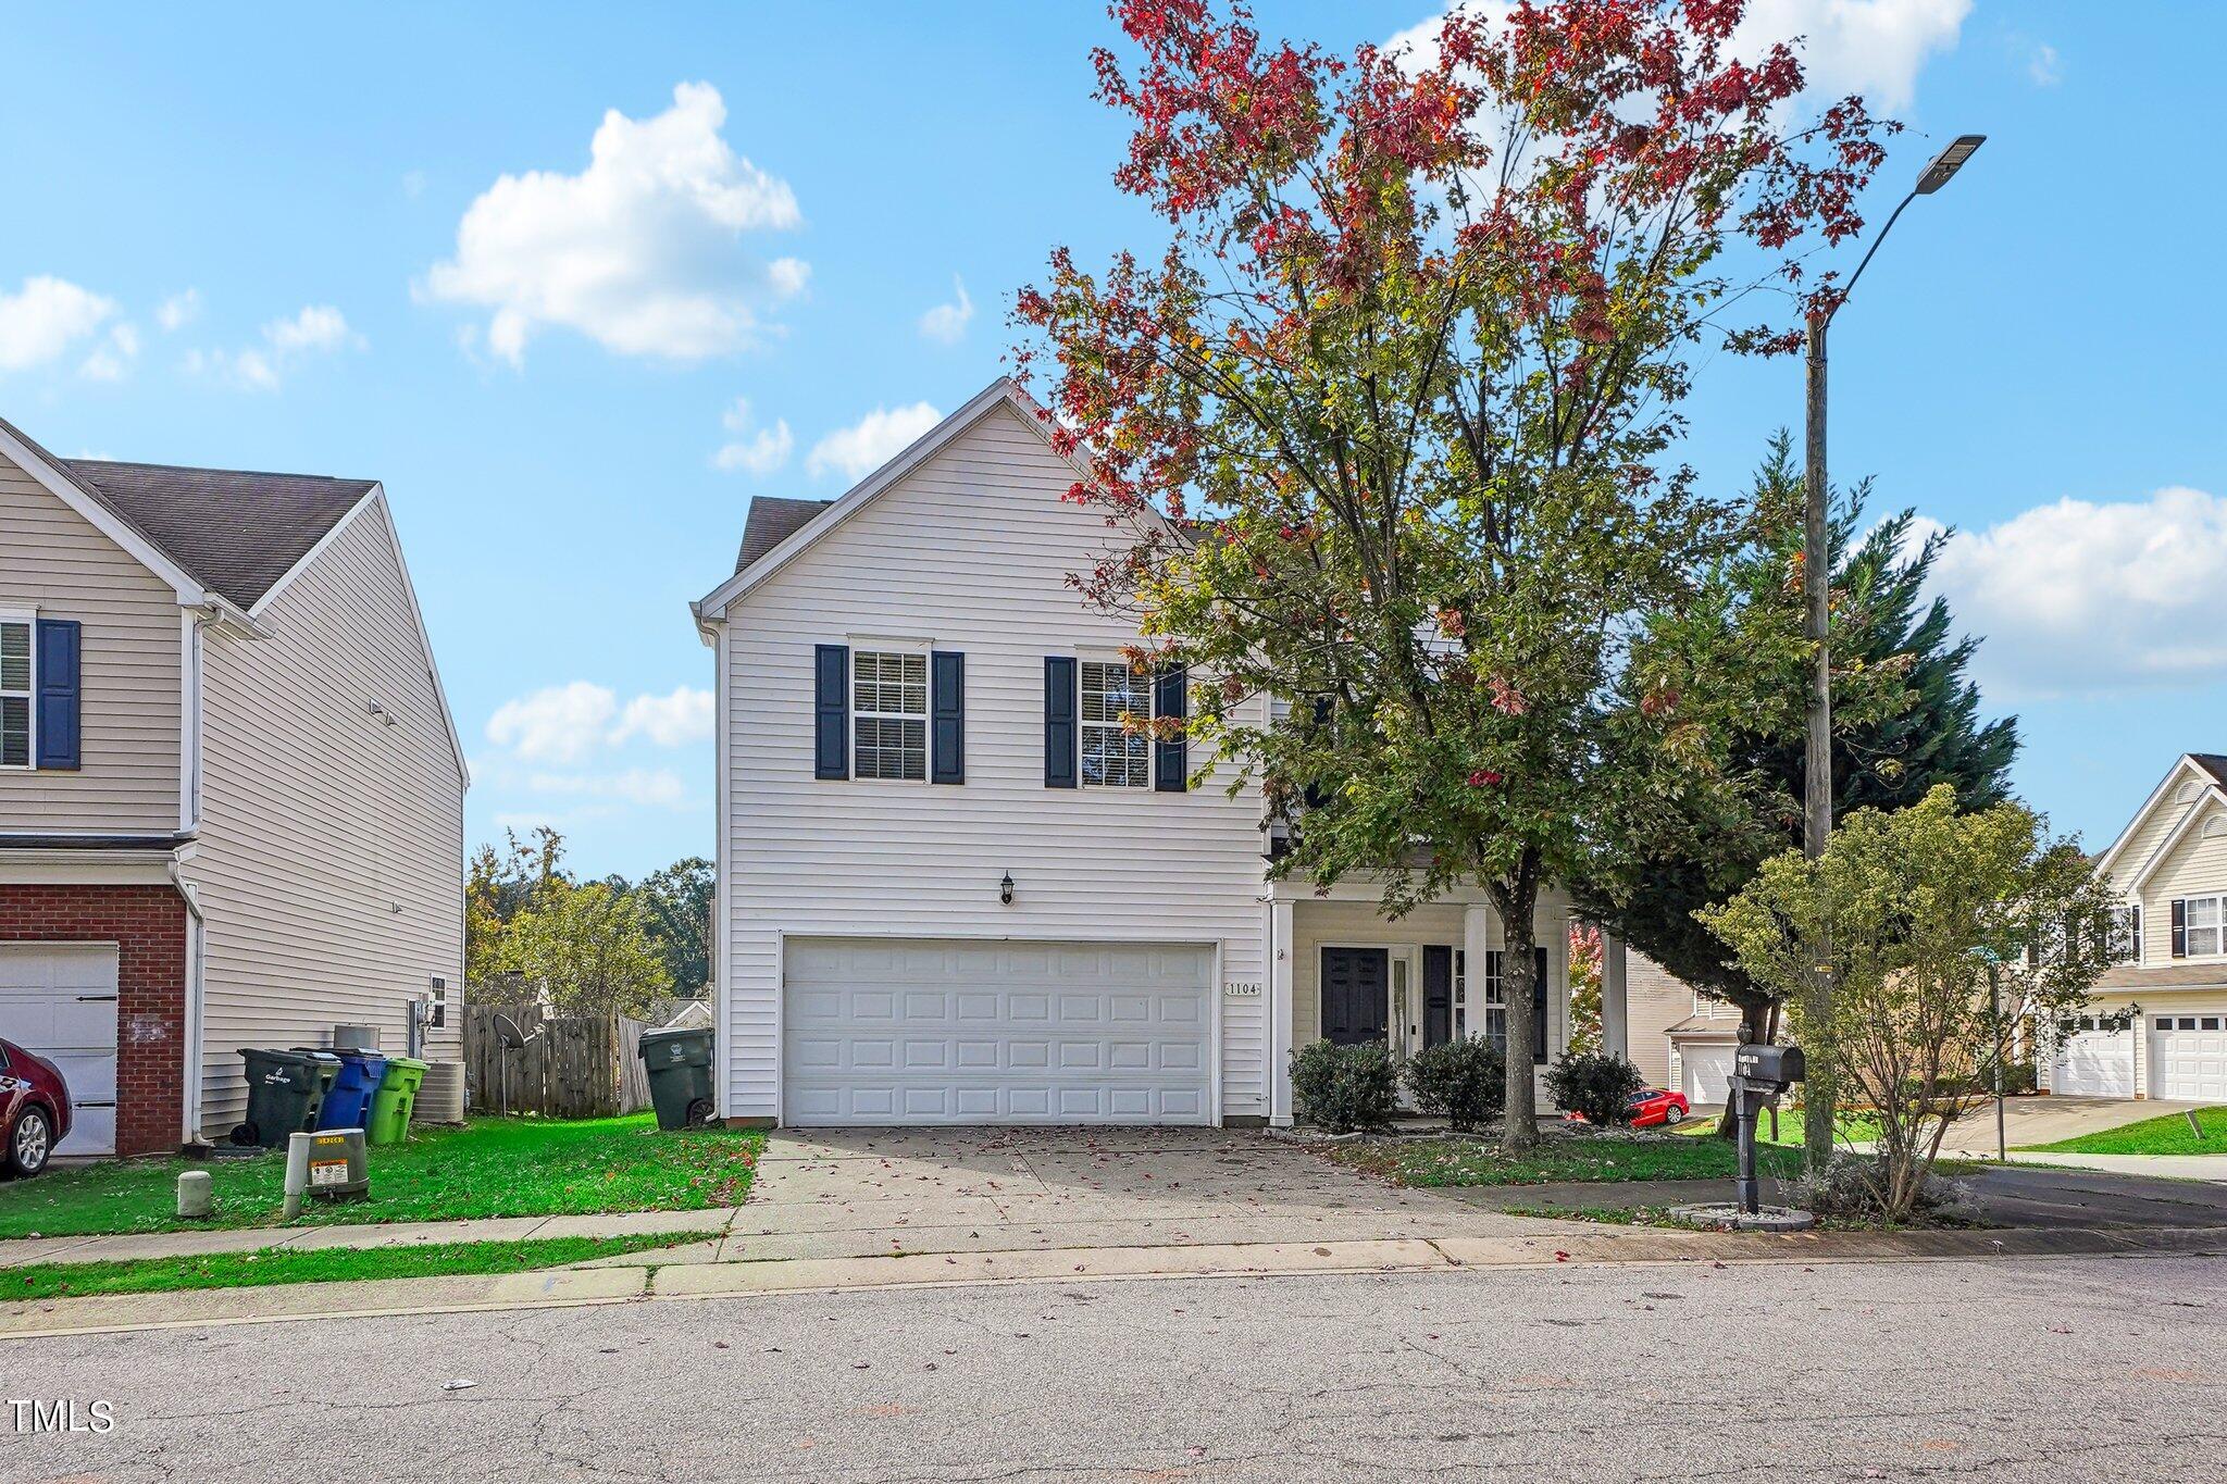
[[[238,1048],[336,1023],[459,1059],[463,790],[376,481],[0,423],[0,1037],[60,1063],[58,1152],[220,1139]]]

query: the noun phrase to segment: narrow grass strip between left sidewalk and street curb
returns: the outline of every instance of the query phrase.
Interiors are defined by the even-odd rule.
[[[704,1233],[644,1233],[632,1237],[550,1237],[546,1241],[332,1248],[323,1253],[263,1248],[261,1253],[216,1253],[209,1257],[45,1262],[31,1268],[0,1268],[0,1299],[78,1299],[94,1293],[176,1293],[180,1288],[345,1284],[367,1277],[523,1273],[702,1239]]]

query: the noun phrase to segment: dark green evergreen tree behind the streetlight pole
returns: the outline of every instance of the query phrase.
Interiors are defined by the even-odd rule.
[[[1915,512],[1868,530],[1871,487],[1835,501],[1833,797],[1842,812],[1900,810],[1949,785],[1962,810],[2011,797],[2013,719],[1980,719],[1969,679],[1978,641],[1958,636],[1949,605],[1926,596],[1946,532],[1911,543]],[[1686,683],[1746,696],[1726,739],[1719,788],[1652,808],[1644,848],[1581,901],[1677,979],[1739,1008],[1744,1041],[1773,1041],[1782,999],[1695,917],[1739,892],[1757,868],[1802,843],[1804,676],[1802,474],[1786,434],[1755,474],[1748,530],[1679,612],[1648,619],[1664,665]],[[1704,679],[1706,676],[1706,679]],[[1721,1124],[1730,1137],[1730,1115]]]

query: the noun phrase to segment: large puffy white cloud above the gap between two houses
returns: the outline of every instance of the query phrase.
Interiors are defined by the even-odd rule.
[[[706,82],[681,82],[648,120],[604,113],[581,174],[501,176],[419,291],[488,309],[488,347],[512,365],[546,325],[624,356],[699,360],[753,345],[759,309],[799,294],[808,267],[757,260],[744,234],[804,218],[786,180],[719,138],[724,125]]]

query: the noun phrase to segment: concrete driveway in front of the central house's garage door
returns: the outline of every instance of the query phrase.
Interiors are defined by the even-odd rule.
[[[1552,1235],[1220,1128],[782,1128],[728,1259]],[[1581,1230],[1581,1228],[1572,1228]]]

